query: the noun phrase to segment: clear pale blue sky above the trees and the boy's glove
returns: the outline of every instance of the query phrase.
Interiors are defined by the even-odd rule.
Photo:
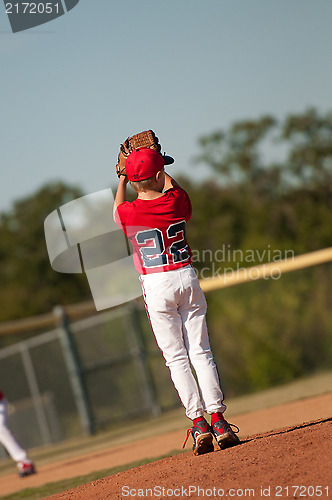
[[[61,179],[115,186],[119,144],[152,128],[193,167],[242,118],[332,109],[330,0],[80,0],[13,34],[0,4],[0,211]]]

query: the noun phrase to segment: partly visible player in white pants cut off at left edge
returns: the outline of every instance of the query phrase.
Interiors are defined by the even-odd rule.
[[[0,391],[0,443],[6,448],[9,455],[17,463],[19,477],[35,474],[36,470],[26,451],[17,442],[7,427],[8,402],[3,392]]]

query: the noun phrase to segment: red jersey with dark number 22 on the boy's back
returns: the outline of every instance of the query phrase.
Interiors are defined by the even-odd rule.
[[[173,187],[154,200],[125,201],[115,211],[115,222],[133,246],[140,274],[172,271],[191,262],[185,225],[191,217],[187,193]]]

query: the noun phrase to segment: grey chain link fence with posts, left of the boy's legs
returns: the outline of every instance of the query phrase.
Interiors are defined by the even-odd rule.
[[[57,328],[0,350],[9,425],[24,447],[180,405],[142,302],[74,322],[54,314]]]

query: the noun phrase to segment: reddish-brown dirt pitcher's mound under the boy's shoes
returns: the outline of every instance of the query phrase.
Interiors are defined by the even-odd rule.
[[[224,451],[158,460],[49,498],[328,498],[331,436],[332,419],[322,419],[251,436]]]

